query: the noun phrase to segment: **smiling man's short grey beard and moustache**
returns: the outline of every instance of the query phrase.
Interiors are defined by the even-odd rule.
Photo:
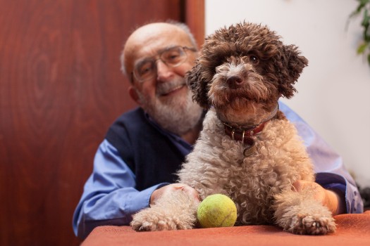
[[[202,108],[192,101],[192,92],[187,89],[185,96],[172,96],[167,101],[159,100],[159,95],[171,89],[184,85],[185,79],[178,78],[172,82],[159,83],[156,87],[156,96],[149,98],[137,91],[142,108],[164,129],[178,134],[187,133],[195,127],[202,117]]]

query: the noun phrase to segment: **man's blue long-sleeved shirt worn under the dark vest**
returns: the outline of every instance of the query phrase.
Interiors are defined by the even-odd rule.
[[[347,213],[362,213],[362,199],[357,186],[346,171],[343,160],[316,132],[293,112],[279,102],[279,108],[295,124],[304,140],[307,152],[314,162],[316,182],[324,188],[339,190],[345,195]],[[192,150],[192,145],[171,132],[161,129],[183,155]],[[73,215],[73,231],[85,238],[93,228],[103,225],[128,225],[132,214],[149,207],[152,192],[168,183],[159,183],[144,190],[136,190],[135,174],[122,160],[118,150],[106,139],[99,145],[94,157],[92,175],[84,186],[84,192]]]

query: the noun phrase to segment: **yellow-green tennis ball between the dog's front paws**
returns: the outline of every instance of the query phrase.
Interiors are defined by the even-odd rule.
[[[234,226],[237,213],[233,200],[226,195],[214,194],[198,207],[197,218],[202,228]]]

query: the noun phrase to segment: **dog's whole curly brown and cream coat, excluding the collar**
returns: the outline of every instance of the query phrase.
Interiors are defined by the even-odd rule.
[[[278,98],[290,98],[308,61],[294,45],[285,46],[266,26],[240,23],[206,38],[195,67],[187,74],[194,99],[209,110],[192,153],[178,171],[179,182],[195,188],[201,200],[228,195],[237,206],[237,225],[278,224],[297,234],[335,231],[331,212],[309,190],[292,183],[314,181],[312,162],[283,112],[254,136],[256,151],[233,141],[223,122],[247,128],[264,122]],[[193,228],[198,203],[178,190],[135,214],[137,231]]]

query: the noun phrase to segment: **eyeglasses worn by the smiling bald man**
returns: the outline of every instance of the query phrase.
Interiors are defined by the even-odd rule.
[[[186,50],[197,51],[196,48],[190,48],[186,46],[167,48],[158,54],[159,58],[147,58],[140,61],[140,63],[137,63],[132,74],[138,82],[144,82],[146,80],[153,79],[156,77],[157,60],[161,60],[168,67],[178,67],[187,59]]]

